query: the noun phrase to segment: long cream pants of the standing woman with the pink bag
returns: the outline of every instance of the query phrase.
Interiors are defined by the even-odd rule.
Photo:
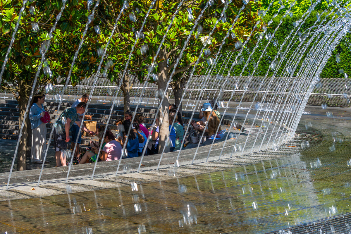
[[[46,151],[46,123],[32,130],[32,162],[42,161]]]

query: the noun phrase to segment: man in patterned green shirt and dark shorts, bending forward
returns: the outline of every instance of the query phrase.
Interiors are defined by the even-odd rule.
[[[72,127],[73,123],[77,123],[78,126],[82,124],[79,120],[78,115],[85,112],[86,103],[80,102],[77,107],[66,109],[54,124],[54,147],[56,166],[67,166],[66,165],[66,152],[67,142],[69,141],[69,128]],[[90,135],[95,133],[87,129],[84,125],[82,129],[88,132]]]

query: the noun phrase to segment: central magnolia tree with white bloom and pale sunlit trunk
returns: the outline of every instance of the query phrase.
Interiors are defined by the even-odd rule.
[[[110,3],[109,7],[114,9],[114,11],[120,9],[115,4],[115,1],[106,2]],[[151,1],[129,1],[129,7],[125,9],[122,19],[118,22],[117,35],[121,45],[115,48],[117,52],[115,54],[116,59],[112,62],[113,66],[110,67],[108,73],[111,77],[117,77],[117,74],[125,68],[126,59],[132,45],[135,43],[137,49],[132,53],[130,63],[127,64],[128,71],[137,73],[141,82],[155,83],[159,89],[159,102],[163,100],[160,103],[161,108],[159,112],[159,119],[163,120],[160,123],[159,132],[160,149],[164,147],[169,131],[168,92],[164,92],[168,88],[167,82],[170,81],[176,103],[181,105],[179,102],[182,89],[190,78],[189,69],[199,59],[201,48],[204,45],[206,46],[206,55],[201,55],[200,65],[196,68],[196,74],[198,73],[197,71],[201,71],[205,60],[211,57],[213,59],[233,23],[234,27],[230,32],[231,36],[224,41],[222,51],[235,50],[234,44],[237,41],[249,40],[247,45],[252,45],[255,43],[256,35],[261,32],[264,26],[264,22],[260,21],[257,11],[252,10],[260,6],[258,2],[253,0],[247,2],[239,0],[227,2],[211,0],[209,3],[209,5],[206,5],[207,1],[185,1],[180,5],[179,12],[176,13],[180,1],[156,1],[155,6],[147,16],[144,28],[140,31]],[[243,6],[245,6],[244,10],[239,13],[240,8]],[[205,7],[207,8],[203,15],[200,16],[201,10]],[[221,16],[223,9],[225,9],[225,14]],[[237,14],[240,15],[237,21],[234,22]],[[175,17],[172,21],[173,16]],[[111,19],[108,19],[106,16],[105,19],[100,20],[104,25],[112,25]],[[181,49],[184,47],[196,19],[199,20],[199,24],[195,27],[184,52],[181,53]],[[213,34],[211,37],[208,37],[218,19],[220,21],[216,25]],[[171,27],[167,32],[169,25]],[[254,27],[255,25],[257,26]],[[253,31],[252,34],[250,34],[251,31]],[[138,35],[140,36],[138,37]],[[160,51],[158,51],[164,35],[166,35],[165,41],[161,45]],[[158,56],[154,60],[154,56],[157,53]],[[179,59],[178,65],[176,64],[177,59]],[[145,80],[145,75],[149,72],[151,72],[151,76]],[[174,75],[171,77],[172,72]],[[124,79],[123,87],[130,87],[127,78]],[[128,97],[125,97],[125,99],[128,99]]]

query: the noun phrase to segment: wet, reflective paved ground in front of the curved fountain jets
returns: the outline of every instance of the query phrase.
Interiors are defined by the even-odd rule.
[[[180,167],[160,172],[178,175],[174,179],[2,201],[0,233],[251,234],[287,232],[336,215],[343,219],[351,211],[348,111],[326,118],[311,110],[312,115],[303,116],[296,139],[277,151],[211,162],[215,169],[221,163],[262,157],[251,165],[190,176],[181,175]],[[300,145],[306,139],[309,147]],[[276,158],[265,160],[267,155]],[[333,231],[333,222],[325,222],[316,233],[339,233]]]

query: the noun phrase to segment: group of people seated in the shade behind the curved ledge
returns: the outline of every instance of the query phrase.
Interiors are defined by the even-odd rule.
[[[190,135],[194,132],[198,135],[201,135],[204,132],[204,136],[208,137],[215,134],[218,127],[219,131],[221,130],[220,114],[217,111],[217,104],[215,105],[214,101],[212,101],[212,103],[205,103],[201,107],[200,118],[200,121],[191,123],[192,129],[185,138],[183,147],[186,147],[188,143],[190,143]],[[151,126],[149,129],[146,127],[144,116],[141,113],[135,115],[132,123],[132,112],[127,110],[124,113],[124,119],[125,120],[116,121],[116,125],[119,129],[119,133],[116,135],[112,133],[110,127],[107,127],[105,137],[102,138],[106,126],[98,126],[95,134],[99,138],[99,142],[91,141],[90,147],[88,147],[83,156],[81,156],[79,164],[95,161],[112,161],[120,158],[134,158],[141,156],[143,151],[145,151],[144,155],[163,152],[163,148],[161,149],[159,147],[158,119],[156,119],[155,125]],[[208,124],[205,128],[206,122],[208,122]],[[128,135],[129,129],[130,132]],[[174,104],[169,105],[169,131],[170,135],[166,141],[166,145],[169,146],[170,152],[179,150],[184,138],[185,129],[181,114],[177,112],[177,106]],[[146,144],[148,138],[150,138],[150,140]],[[99,153],[101,142],[103,143]],[[122,152],[122,148],[125,144],[126,150]]]

